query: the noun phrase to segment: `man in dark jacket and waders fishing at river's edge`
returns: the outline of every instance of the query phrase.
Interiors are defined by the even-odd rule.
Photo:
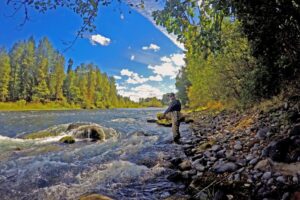
[[[172,120],[172,132],[173,132],[173,139],[175,143],[179,143],[180,133],[179,133],[179,126],[180,126],[180,111],[181,111],[181,103],[179,100],[176,99],[174,93],[168,94],[170,99],[170,104],[168,109],[164,112],[163,118],[166,118],[166,115],[170,113],[171,120]]]

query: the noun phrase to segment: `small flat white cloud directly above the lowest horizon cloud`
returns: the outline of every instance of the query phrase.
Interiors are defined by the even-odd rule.
[[[126,83],[129,83],[129,84],[141,84],[141,83],[145,83],[147,81],[162,81],[163,80],[160,75],[149,76],[146,78],[146,77],[139,75],[138,73],[135,73],[128,69],[122,69],[120,74],[122,76],[128,77],[128,79],[126,80]]]

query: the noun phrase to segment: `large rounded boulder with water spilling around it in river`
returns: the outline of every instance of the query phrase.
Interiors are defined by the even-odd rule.
[[[118,133],[112,128],[106,128],[95,123],[75,123],[68,127],[69,133],[75,138],[89,138],[92,140],[105,140],[117,137]]]

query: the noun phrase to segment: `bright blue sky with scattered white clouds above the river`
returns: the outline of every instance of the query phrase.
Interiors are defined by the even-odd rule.
[[[8,49],[30,36],[36,40],[47,36],[62,52],[64,42],[73,40],[81,25],[79,16],[60,8],[45,14],[31,11],[30,21],[20,27],[24,13],[8,17],[12,10],[4,2],[0,2],[0,46]],[[86,34],[64,52],[66,60],[72,58],[75,66],[97,64],[102,72],[115,76],[119,94],[133,100],[160,98],[163,93],[175,91],[175,75],[184,65],[183,51],[174,37],[153,24],[151,9],[137,11],[125,4],[100,8],[96,32]]]

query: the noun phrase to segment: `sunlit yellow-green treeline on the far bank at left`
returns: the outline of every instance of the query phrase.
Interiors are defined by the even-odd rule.
[[[90,63],[73,70],[73,60],[65,57],[45,37],[17,42],[7,51],[0,49],[0,101],[60,102],[81,108],[138,107],[117,94],[113,77]],[[65,69],[67,71],[65,72]]]

